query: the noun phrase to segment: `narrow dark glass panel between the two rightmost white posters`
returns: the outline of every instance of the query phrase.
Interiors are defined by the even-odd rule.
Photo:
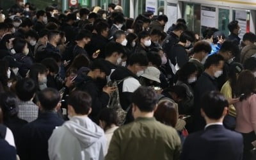
[[[222,31],[225,36],[229,35],[228,31],[229,23],[229,10],[219,8],[219,30]]]

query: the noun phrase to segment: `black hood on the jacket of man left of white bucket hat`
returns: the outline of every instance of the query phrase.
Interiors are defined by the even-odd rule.
[[[135,79],[138,79],[138,77],[135,74],[133,74],[126,67],[116,68],[116,70],[111,74],[110,79],[112,81],[120,81],[120,80],[124,79],[125,77],[134,77]]]

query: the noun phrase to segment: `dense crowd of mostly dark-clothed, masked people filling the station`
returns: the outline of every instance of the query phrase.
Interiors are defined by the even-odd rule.
[[[255,159],[256,36],[108,5],[0,11],[0,159]]]

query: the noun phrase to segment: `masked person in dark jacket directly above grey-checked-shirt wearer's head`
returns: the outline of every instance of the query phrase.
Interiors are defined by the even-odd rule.
[[[26,42],[26,40],[16,38],[13,41],[13,48],[16,52],[13,54],[13,58],[22,63],[22,66],[19,67],[19,74],[22,77],[26,77],[29,68],[33,65],[33,60],[28,56],[28,42]]]

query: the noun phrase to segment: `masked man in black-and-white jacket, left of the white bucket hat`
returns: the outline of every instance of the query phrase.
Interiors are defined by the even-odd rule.
[[[111,81],[122,81],[118,84],[118,92],[120,93],[120,104],[125,111],[129,110],[126,116],[125,123],[129,123],[133,120],[131,108],[131,96],[138,87],[141,86],[138,81],[138,77],[143,74],[143,70],[148,66],[148,58],[143,53],[131,54],[127,67],[117,67],[111,74]],[[142,71],[142,72],[141,72]]]

